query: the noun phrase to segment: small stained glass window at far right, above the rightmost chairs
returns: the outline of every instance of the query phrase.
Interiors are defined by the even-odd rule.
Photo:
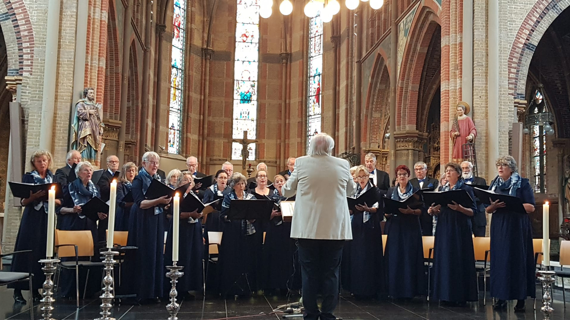
[[[543,112],[543,95],[536,90],[533,113]],[[536,193],[546,192],[544,173],[546,172],[546,131],[543,126],[531,126],[531,167],[534,175],[534,190]]]

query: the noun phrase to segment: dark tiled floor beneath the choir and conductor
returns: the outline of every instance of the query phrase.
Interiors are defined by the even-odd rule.
[[[25,293],[25,298],[26,293]],[[540,288],[537,293],[540,294]],[[298,299],[299,297],[295,297]],[[482,297],[481,297],[482,298]],[[570,299],[570,294],[568,295]],[[0,288],[0,319],[30,319],[30,305],[18,306],[13,304],[12,291],[5,287]],[[289,301],[293,302],[293,301]],[[260,315],[255,318],[267,320],[281,319],[282,314],[271,314],[272,310],[278,306],[287,303],[286,297],[277,296],[254,296],[251,298],[241,298],[238,300],[223,300],[215,297],[202,297],[193,301],[182,301],[178,318],[184,319],[223,319],[226,317],[239,317],[247,315]],[[396,302],[392,300],[386,301],[357,301],[350,295],[344,295],[340,298],[339,306],[335,314],[344,320],[351,319],[398,319],[398,320],[502,320],[502,319],[527,319],[536,320],[543,319],[540,313],[540,300],[537,302],[537,309],[532,309],[532,300],[527,301],[527,310],[525,313],[514,313],[512,308],[513,302],[509,305],[508,310],[496,312],[492,310],[491,301],[487,300],[487,305],[483,306],[482,301],[472,303],[471,305],[460,307],[442,307],[436,302],[426,302],[422,298],[416,298],[409,302]],[[570,301],[569,308],[570,308]],[[79,309],[76,309],[74,301],[57,301],[55,304],[55,319],[95,319],[99,317],[100,301],[88,300],[84,301]],[[113,315],[117,320],[154,320],[166,319],[168,313],[165,308],[166,302],[154,305],[132,306],[121,305],[113,308]],[[562,303],[562,294],[560,289],[555,290],[555,303],[553,305],[555,311],[551,319],[570,319],[570,309],[564,310]],[[40,306],[34,306],[34,319],[42,319],[42,311]],[[301,319],[301,318],[293,318]]]

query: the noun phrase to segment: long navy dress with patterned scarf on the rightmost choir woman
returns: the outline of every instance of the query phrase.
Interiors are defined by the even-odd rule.
[[[528,179],[520,178],[516,173],[506,182],[499,179],[497,177],[491,182],[490,190],[517,196],[523,203],[535,205],[534,192]],[[508,208],[497,210],[491,224],[491,297],[499,300],[534,298],[536,266],[533,255],[528,214],[509,211]]]

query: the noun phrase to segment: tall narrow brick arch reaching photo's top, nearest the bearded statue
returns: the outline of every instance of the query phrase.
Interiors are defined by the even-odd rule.
[[[107,22],[103,116],[112,120],[119,120],[119,108],[121,105],[121,61],[119,58],[119,32],[116,23],[115,4],[113,1],[110,1]]]

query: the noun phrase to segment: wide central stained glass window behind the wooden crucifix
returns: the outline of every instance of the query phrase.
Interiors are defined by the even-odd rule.
[[[259,63],[259,4],[258,0],[237,0],[234,59],[234,120],[233,138],[257,137],[257,75]],[[234,142],[231,158],[242,159],[242,145]],[[255,160],[255,143],[247,145],[248,160]]]

